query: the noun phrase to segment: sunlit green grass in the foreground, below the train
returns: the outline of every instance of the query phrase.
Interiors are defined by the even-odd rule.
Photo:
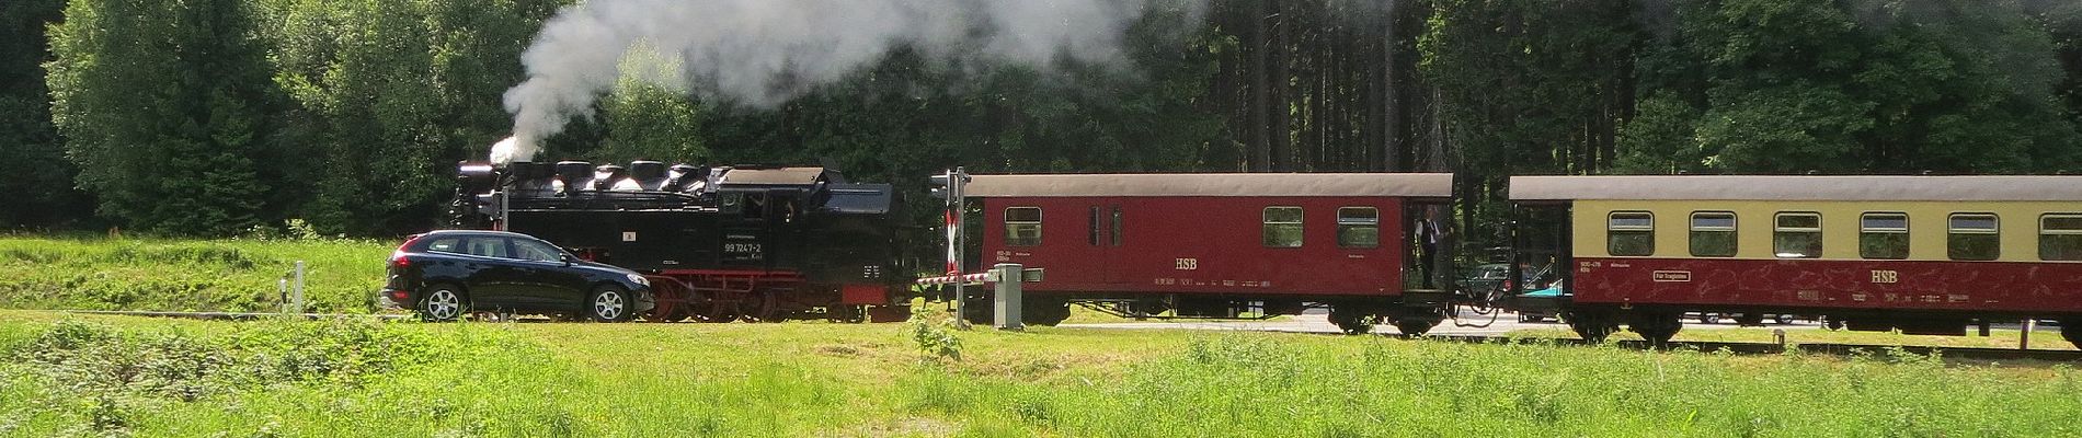
[[[945,359],[908,332],[0,311],[0,436],[2082,434],[2049,363],[1074,328]]]

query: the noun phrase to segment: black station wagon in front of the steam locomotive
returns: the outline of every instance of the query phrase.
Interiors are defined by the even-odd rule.
[[[391,253],[381,299],[431,322],[471,311],[623,322],[654,305],[643,274],[500,230],[435,230],[406,239]]]

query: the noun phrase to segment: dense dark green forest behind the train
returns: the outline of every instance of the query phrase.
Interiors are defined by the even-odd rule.
[[[0,226],[431,226],[452,164],[508,135],[500,95],[566,2],[4,2]],[[1122,62],[897,50],[779,108],[635,81],[683,69],[635,50],[548,152],[829,164],[914,189],[945,166],[1455,170],[1476,210],[1505,174],[2082,160],[2070,0],[1189,2],[1139,17]]]

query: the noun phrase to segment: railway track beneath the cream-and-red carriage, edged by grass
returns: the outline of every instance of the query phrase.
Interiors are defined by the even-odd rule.
[[[1399,334],[1397,334],[1399,336]],[[1522,338],[1522,336],[1474,336],[1474,334],[1449,334],[1449,336],[1403,336],[1403,338],[1428,338],[1428,340],[1449,340],[1449,343],[1520,343],[1520,345],[1589,345],[1580,338]],[[1928,347],[1928,345],[1780,345],[1780,343],[1709,343],[1709,340],[1672,340],[1664,345],[1653,345],[1649,340],[1618,340],[1620,349],[1639,351],[1722,351],[1736,355],[1780,355],[1786,349],[1799,349],[1801,353],[1816,355],[1872,355],[1888,357],[1895,353],[1909,355],[1936,355],[1945,359],[1972,359],[1972,361],[2065,361],[2082,363],[2082,351],[2053,351],[2053,349],[1986,349],[1986,347]]]

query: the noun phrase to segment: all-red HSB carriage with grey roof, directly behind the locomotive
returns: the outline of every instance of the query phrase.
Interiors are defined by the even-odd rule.
[[[1414,253],[1451,174],[976,174],[983,264],[1047,268],[1026,320],[1068,303],[1133,318],[1241,318],[1332,307],[1349,332],[1439,324]],[[981,307],[981,305],[979,305]]]

